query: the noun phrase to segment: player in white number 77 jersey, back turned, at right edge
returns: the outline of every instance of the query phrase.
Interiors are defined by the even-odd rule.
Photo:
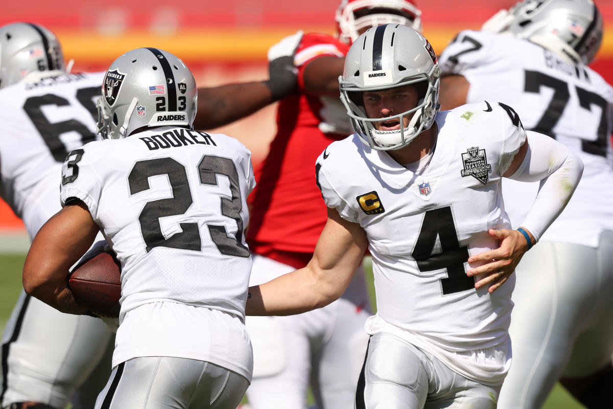
[[[585,163],[568,207],[517,267],[513,365],[501,409],[540,408],[558,379],[586,407],[611,406],[613,88],[586,65],[602,36],[592,0],[525,1],[481,31],[460,32],[441,56],[443,107],[507,103],[526,129],[560,141]],[[538,184],[529,189],[504,182],[514,226]]]

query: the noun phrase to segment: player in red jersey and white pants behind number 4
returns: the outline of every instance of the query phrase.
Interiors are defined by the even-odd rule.
[[[299,89],[280,100],[277,133],[268,156],[256,167],[258,186],[250,198],[252,217],[247,231],[254,253],[252,285],[305,266],[326,224],[313,163],[332,141],[352,133],[338,98],[338,76],[343,73],[349,45],[360,32],[378,24],[421,29],[421,12],[407,0],[343,0],[336,21],[337,36],[299,32],[287,39],[287,51],[280,53],[293,54],[295,48],[291,62],[298,70]],[[230,85],[232,89],[239,86]],[[256,88],[257,84],[246,86]],[[219,126],[223,118],[219,110],[202,104],[199,126]],[[232,105],[215,104],[219,106]],[[293,317],[249,317],[254,351],[249,405],[254,409],[306,409],[310,384],[320,408],[352,409],[368,342],[364,323],[369,311],[360,265],[345,294],[323,309]]]

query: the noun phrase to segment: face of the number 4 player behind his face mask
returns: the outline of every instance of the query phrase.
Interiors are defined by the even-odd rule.
[[[398,88],[381,89],[377,91],[364,91],[362,94],[364,108],[368,118],[387,118],[402,114],[417,107],[419,96],[417,89],[409,84]],[[402,127],[409,126],[409,121],[414,113],[402,117]],[[387,121],[373,122],[376,130],[400,129],[400,118],[388,119]]]

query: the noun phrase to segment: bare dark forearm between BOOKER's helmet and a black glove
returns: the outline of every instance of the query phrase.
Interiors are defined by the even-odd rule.
[[[212,129],[245,118],[272,103],[264,81],[198,89],[195,129]]]

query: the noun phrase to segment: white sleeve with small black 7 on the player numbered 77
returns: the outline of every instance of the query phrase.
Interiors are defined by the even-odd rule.
[[[438,59],[442,75],[457,74],[466,77],[470,75],[471,69],[484,66],[492,54],[490,43],[489,36],[484,32],[460,31]]]

